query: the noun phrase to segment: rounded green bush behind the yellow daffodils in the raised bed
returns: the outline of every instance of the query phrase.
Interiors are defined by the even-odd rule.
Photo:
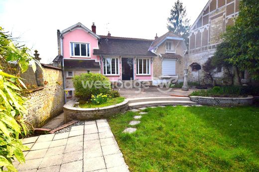
[[[102,74],[86,73],[73,77],[75,95],[82,100],[91,99],[92,95],[111,92],[111,82]]]

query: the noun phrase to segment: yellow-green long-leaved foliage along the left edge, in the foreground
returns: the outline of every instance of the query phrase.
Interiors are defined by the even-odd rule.
[[[22,151],[27,147],[19,137],[26,135],[27,130],[23,120],[27,110],[21,96],[26,87],[19,74],[28,69],[29,63],[35,69],[35,61],[28,51],[24,46],[14,45],[10,35],[0,27],[0,172],[4,167],[9,172],[16,172],[12,165],[14,158],[25,162]]]

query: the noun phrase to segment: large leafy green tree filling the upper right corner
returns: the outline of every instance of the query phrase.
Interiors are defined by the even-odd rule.
[[[252,79],[259,80],[259,1],[241,0],[235,25],[222,35],[223,42],[215,54],[228,57],[239,71],[247,70]]]

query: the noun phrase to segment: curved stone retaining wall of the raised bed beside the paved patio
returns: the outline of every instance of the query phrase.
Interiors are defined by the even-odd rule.
[[[77,101],[77,98],[72,98],[63,106],[65,123],[74,119],[87,120],[110,117],[114,114],[125,112],[129,107],[127,99],[119,104],[97,108],[74,107]]]

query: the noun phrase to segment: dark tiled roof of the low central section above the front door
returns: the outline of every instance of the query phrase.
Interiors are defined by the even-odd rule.
[[[100,36],[100,47],[94,50],[94,55],[120,56],[149,56],[156,55],[148,51],[152,40],[139,38],[123,38],[114,36]]]

